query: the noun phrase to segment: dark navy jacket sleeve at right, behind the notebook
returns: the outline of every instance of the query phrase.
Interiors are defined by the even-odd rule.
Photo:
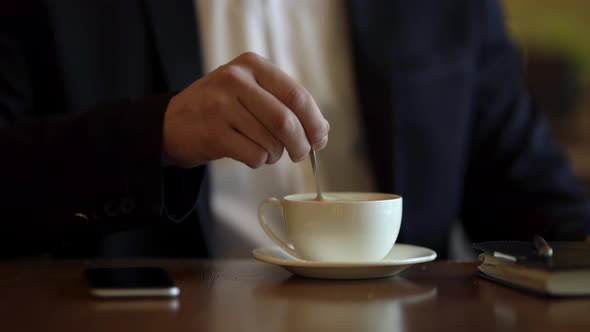
[[[582,240],[590,234],[587,194],[525,92],[498,2],[482,3],[465,228],[474,241]]]

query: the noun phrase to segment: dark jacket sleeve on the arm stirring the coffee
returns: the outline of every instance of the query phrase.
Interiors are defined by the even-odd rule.
[[[39,102],[52,92],[35,80],[49,75],[39,60],[45,57],[33,56],[47,46],[30,24],[38,18],[19,2],[3,3],[0,12],[0,235],[146,227],[192,211],[203,168],[162,167],[171,95],[43,115],[59,113],[59,103]],[[179,185],[186,179],[190,188]]]

